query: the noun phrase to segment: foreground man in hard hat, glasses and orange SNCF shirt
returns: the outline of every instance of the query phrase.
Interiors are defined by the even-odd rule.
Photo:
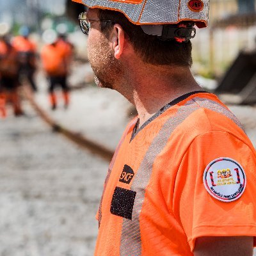
[[[255,149],[190,72],[209,0],[76,2],[96,83],[138,111],[109,165],[95,255],[252,255]]]

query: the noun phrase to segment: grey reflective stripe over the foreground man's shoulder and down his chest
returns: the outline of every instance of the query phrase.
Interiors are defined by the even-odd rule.
[[[191,113],[195,112],[200,107],[225,115],[242,128],[236,116],[213,100],[195,97],[186,102],[184,106],[180,106],[176,115],[172,116],[164,123],[156,138],[152,141],[134,177],[131,190],[136,191],[136,198],[132,209],[132,220],[123,219],[120,256],[141,255],[140,212],[145,200],[145,188],[152,174],[153,163],[166,146],[172,132],[188,118]]]

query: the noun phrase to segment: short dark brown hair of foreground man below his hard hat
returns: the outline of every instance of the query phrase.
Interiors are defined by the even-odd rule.
[[[113,21],[113,23],[104,21],[100,23],[100,29],[106,36],[113,28],[113,24],[120,24],[134,47],[134,51],[141,56],[145,63],[191,67],[192,45],[190,41],[182,43],[174,39],[164,41],[158,36],[148,35],[141,26],[130,22],[121,12],[99,9],[98,16],[100,20]]]

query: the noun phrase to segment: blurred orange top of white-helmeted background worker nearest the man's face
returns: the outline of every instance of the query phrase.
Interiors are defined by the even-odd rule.
[[[65,52],[57,44],[45,45],[41,52],[45,72],[49,76],[67,75],[67,61]]]

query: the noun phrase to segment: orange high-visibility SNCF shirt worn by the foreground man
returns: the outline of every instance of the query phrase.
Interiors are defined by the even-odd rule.
[[[192,256],[198,237],[256,236],[255,149],[215,95],[188,93],[136,126],[109,165],[95,255]]]

